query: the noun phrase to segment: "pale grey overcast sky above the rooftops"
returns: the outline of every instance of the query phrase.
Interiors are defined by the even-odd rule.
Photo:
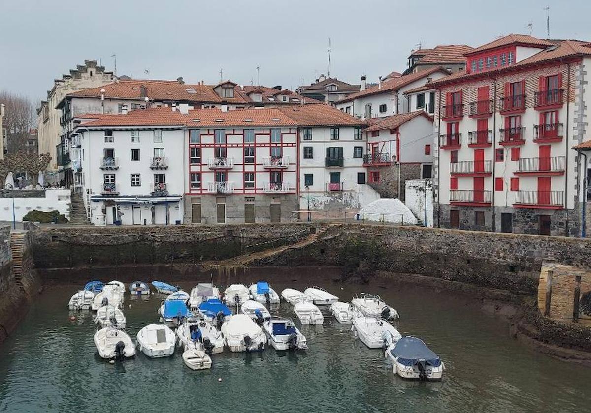
[[[403,71],[421,42],[480,45],[501,34],[591,40],[589,0],[0,0],[0,90],[43,99],[85,59],[134,78],[295,89],[328,70],[350,83]],[[145,71],[149,70],[149,74]]]

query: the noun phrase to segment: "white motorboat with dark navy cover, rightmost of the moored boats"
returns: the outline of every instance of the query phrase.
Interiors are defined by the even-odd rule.
[[[392,342],[385,351],[392,362],[392,373],[405,379],[439,380],[445,365],[423,340],[402,337]]]

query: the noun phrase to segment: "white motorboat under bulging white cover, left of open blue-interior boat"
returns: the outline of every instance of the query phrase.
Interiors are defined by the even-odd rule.
[[[251,317],[236,314],[222,324],[225,345],[232,352],[264,350],[267,337]]]

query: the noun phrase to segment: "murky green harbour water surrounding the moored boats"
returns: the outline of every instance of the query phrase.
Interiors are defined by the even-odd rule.
[[[303,290],[322,275],[266,278],[280,292]],[[254,270],[249,276],[255,281]],[[362,291],[380,294],[401,314],[402,335],[421,337],[444,360],[443,381],[409,382],[392,375],[381,350],[366,348],[353,339],[350,325],[330,317],[322,327],[301,327],[310,347],[305,353],[225,350],[212,357],[211,371],[201,372],[187,369],[180,352],[154,360],[140,353],[110,365],[96,354],[90,313],[69,320],[66,304],[77,286],[67,286],[38,297],[2,346],[0,411],[589,411],[590,369],[519,345],[509,339],[505,322],[463,299],[387,283],[322,284],[342,300]],[[126,296],[132,339],[158,320],[164,297]],[[286,303],[271,312],[296,319]]]

